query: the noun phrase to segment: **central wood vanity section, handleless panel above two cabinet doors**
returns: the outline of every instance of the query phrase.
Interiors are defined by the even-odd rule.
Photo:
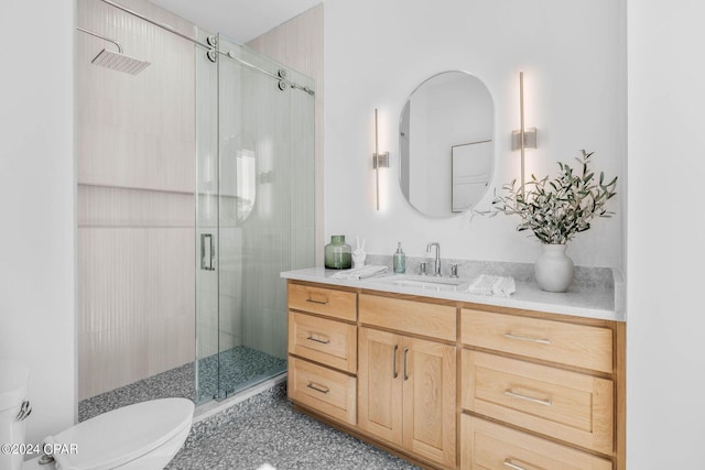
[[[359,318],[358,426],[455,468],[456,347],[440,341],[456,336],[455,307],[361,294]]]

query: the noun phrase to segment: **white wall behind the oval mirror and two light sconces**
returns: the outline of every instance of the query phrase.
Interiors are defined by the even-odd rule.
[[[325,1],[326,239],[359,234],[368,252],[380,254],[391,254],[401,241],[409,255],[423,255],[426,242],[438,241],[443,256],[533,262],[539,243],[514,231],[516,219],[430,219],[403,200],[397,181],[400,111],[433,74],[463,69],[479,77],[496,106],[491,185],[501,186],[519,176],[510,139],[519,128],[524,70],[527,125],[539,129],[540,144],[527,152],[528,173],[555,174],[556,161],[571,162],[586,149],[596,152],[596,168],[623,177],[625,23],[623,0]],[[375,108],[380,150],[392,159],[379,212],[371,171]],[[612,209],[619,211],[619,200]],[[620,265],[622,215],[597,220],[571,243],[576,264]]]

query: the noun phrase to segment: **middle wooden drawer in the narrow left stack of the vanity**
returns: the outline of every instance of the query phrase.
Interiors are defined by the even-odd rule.
[[[355,373],[357,326],[289,310],[289,352]]]

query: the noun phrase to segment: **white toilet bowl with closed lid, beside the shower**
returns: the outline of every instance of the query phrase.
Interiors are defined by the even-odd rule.
[[[104,413],[44,442],[61,446],[55,447],[59,450],[54,459],[62,470],[107,470],[154,450],[191,427],[193,414],[189,400],[152,400]]]

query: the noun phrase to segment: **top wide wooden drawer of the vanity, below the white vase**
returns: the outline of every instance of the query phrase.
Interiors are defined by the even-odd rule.
[[[464,308],[465,345],[611,373],[612,330]]]

